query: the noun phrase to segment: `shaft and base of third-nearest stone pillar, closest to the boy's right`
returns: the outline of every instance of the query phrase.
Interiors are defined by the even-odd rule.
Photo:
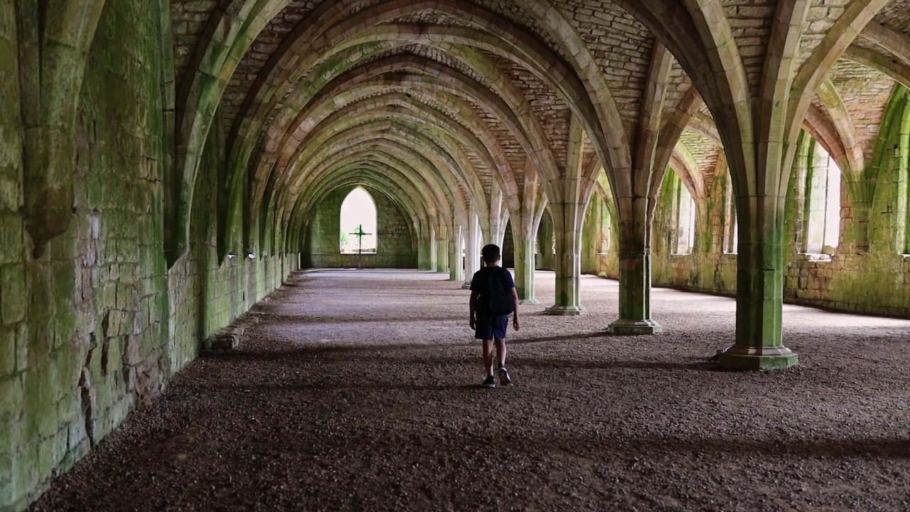
[[[551,203],[553,228],[556,232],[556,303],[548,314],[577,315],[581,307],[581,231],[575,222],[579,205]]]

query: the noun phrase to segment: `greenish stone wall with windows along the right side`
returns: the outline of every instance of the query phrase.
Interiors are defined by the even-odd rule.
[[[906,129],[906,128],[904,128]],[[885,134],[886,136],[886,134]],[[798,169],[791,175],[790,196],[784,222],[784,301],[845,312],[910,317],[910,258],[901,246],[906,220],[902,201],[908,149],[883,144],[870,169],[877,176],[871,208],[854,207],[847,183],[841,191],[840,243],[834,254],[804,253],[803,219],[807,210],[800,200]],[[811,167],[811,152],[797,165]],[[873,164],[875,165],[875,164]],[[676,179],[668,173],[667,180]],[[736,293],[736,254],[730,243],[733,216],[728,212],[724,189],[726,175],[713,180],[706,199],[698,200],[699,218],[691,254],[673,254],[676,224],[672,187],[665,180],[653,229],[653,284],[699,292]],[[601,267],[603,269],[603,266]],[[612,272],[607,272],[613,277]],[[659,320],[659,319],[658,319]]]

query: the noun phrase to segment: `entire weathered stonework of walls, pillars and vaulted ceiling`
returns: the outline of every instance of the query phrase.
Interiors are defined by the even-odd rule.
[[[358,184],[366,266],[470,281],[501,243],[551,312],[620,278],[624,334],[652,282],[735,293],[737,369],[795,364],[784,300],[910,316],[906,0],[45,4],[0,6],[3,512],[301,261],[355,266]]]

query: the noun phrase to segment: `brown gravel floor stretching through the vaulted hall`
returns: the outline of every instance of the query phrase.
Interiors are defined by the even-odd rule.
[[[32,510],[908,510],[910,322],[784,306],[797,368],[729,373],[734,302],[655,290],[667,332],[522,306],[515,385],[480,389],[468,293],[417,271],[298,273]]]

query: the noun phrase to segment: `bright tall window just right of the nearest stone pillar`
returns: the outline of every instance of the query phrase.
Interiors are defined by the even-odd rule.
[[[841,233],[841,169],[814,140],[804,181],[804,252],[834,251]]]

